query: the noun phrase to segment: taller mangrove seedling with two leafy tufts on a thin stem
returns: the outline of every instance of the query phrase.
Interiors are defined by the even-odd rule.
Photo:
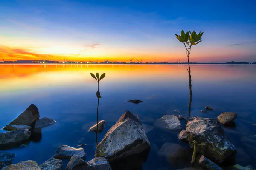
[[[186,33],[181,30],[181,34],[177,35],[175,34],[176,38],[184,44],[185,48],[186,48],[186,55],[188,57],[188,65],[189,65],[189,116],[190,116],[190,108],[191,108],[191,102],[192,102],[192,84],[191,84],[191,70],[190,70],[190,64],[189,64],[189,55],[191,52],[191,47],[194,45],[197,45],[199,42],[201,42],[201,37],[204,33],[202,31],[199,32],[199,34],[196,34],[195,31],[191,32],[191,31],[187,31]],[[188,46],[186,46],[186,44]]]

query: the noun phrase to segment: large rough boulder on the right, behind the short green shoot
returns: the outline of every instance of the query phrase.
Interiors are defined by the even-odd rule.
[[[197,151],[212,161],[222,163],[237,152],[215,118],[192,117],[186,125],[190,146],[198,142]]]

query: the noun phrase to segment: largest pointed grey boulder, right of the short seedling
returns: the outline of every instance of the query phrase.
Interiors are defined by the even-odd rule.
[[[150,142],[140,120],[131,112],[125,111],[96,147],[95,157],[105,157],[113,161],[141,153],[148,148]]]

